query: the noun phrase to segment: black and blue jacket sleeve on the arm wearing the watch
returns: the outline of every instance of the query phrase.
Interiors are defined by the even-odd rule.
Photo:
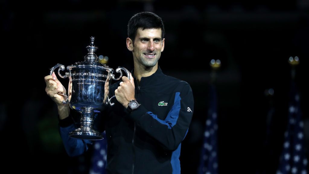
[[[174,104],[165,120],[160,120],[143,105],[130,113],[138,127],[159,141],[164,149],[174,151],[188,132],[193,115],[193,94],[188,83],[181,92],[176,92]]]

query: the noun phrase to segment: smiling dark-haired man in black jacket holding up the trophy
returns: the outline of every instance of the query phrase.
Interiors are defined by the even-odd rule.
[[[129,20],[126,45],[133,53],[134,71],[130,80],[124,76],[111,86],[118,102],[99,117],[97,126],[106,132],[108,173],[180,173],[180,147],[193,115],[193,94],[187,82],[164,75],[158,66],[164,42],[164,25],[156,14],[142,12]],[[67,153],[82,154],[91,141],[68,136],[74,124],[57,94],[66,90],[54,74],[45,82],[46,93],[58,106]]]

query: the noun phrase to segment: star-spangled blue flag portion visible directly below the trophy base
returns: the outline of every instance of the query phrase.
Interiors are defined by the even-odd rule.
[[[105,131],[103,133],[105,136]],[[91,156],[90,174],[105,174],[106,157],[107,157],[107,142],[106,138],[94,141],[93,154]]]

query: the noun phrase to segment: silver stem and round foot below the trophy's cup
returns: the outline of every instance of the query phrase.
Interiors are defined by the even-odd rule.
[[[80,112],[82,117],[80,120],[80,128],[69,133],[72,138],[84,139],[84,140],[101,140],[103,136],[99,131],[93,130],[93,107],[81,107]]]

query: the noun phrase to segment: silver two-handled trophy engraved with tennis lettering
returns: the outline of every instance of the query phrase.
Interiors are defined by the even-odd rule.
[[[114,70],[105,64],[98,63],[98,57],[95,51],[98,47],[94,46],[94,37],[90,37],[90,46],[87,46],[88,54],[84,57],[85,61],[75,63],[68,66],[64,76],[60,71],[65,70],[65,66],[57,64],[50,70],[50,75],[59,67],[58,75],[61,78],[69,77],[68,95],[63,95],[66,100],[62,101],[64,104],[69,102],[71,109],[81,113],[80,128],[69,133],[70,137],[86,140],[100,140],[103,139],[99,131],[93,129],[93,116],[95,112],[100,112],[108,104],[111,106],[114,103],[111,99],[115,96],[110,96],[110,80],[119,80],[122,77],[121,69],[125,71],[128,78],[129,71],[124,67],[118,67],[116,72],[120,73],[119,78],[115,78]]]

